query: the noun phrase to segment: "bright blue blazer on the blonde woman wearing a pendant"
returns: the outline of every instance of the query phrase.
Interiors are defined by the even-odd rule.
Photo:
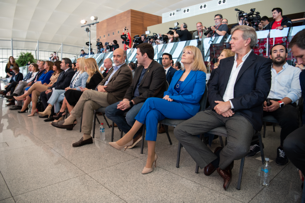
[[[206,73],[202,71],[190,71],[180,87],[180,92],[175,90],[175,85],[181,78],[184,70],[175,72],[172,83],[164,92],[175,102],[181,103],[183,109],[192,116],[195,116],[200,109],[200,99],[206,88]]]

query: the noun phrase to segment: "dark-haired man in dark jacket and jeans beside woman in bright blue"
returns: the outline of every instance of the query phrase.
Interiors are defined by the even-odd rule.
[[[149,43],[137,46],[137,59],[140,66],[136,68],[131,86],[127,89],[124,99],[106,108],[106,116],[114,121],[124,133],[133,126],[135,116],[141,110],[146,99],[163,98],[166,91],[166,75],[161,64],[153,60],[153,47]],[[126,117],[122,116],[127,112]],[[142,140],[142,129],[133,137],[132,148]]]

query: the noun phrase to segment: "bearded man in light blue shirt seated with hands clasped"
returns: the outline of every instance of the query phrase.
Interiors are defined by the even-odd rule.
[[[299,76],[300,68],[288,65],[286,58],[287,48],[282,44],[275,44],[270,51],[273,65],[272,85],[267,100],[270,106],[264,102],[264,116],[272,115],[281,126],[280,145],[276,150],[275,163],[284,166],[288,163],[287,156],[282,148],[285,138],[299,127],[299,114],[297,110],[298,100],[301,97],[301,86]],[[260,152],[259,143],[250,146],[250,152],[246,157],[254,157]]]

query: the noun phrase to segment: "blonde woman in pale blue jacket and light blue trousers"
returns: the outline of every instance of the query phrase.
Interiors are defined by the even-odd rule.
[[[81,90],[80,87],[85,88],[86,82],[89,77],[85,70],[85,58],[78,58],[76,62],[77,72],[74,74],[70,86],[65,89],[55,89],[52,92],[50,99],[48,100],[48,106],[44,112],[38,112],[40,115],[51,115],[51,109],[54,105],[54,112],[58,113],[61,110],[60,102],[64,98],[64,92],[68,89]]]

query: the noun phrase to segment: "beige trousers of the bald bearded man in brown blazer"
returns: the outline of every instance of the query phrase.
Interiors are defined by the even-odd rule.
[[[86,90],[71,111],[71,115],[80,117],[83,114],[82,133],[91,134],[93,111],[110,104],[107,101],[107,92]]]

